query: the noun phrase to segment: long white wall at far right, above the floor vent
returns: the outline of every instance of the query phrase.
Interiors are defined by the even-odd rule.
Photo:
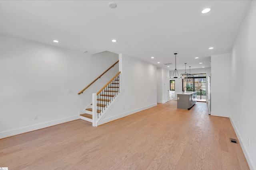
[[[230,119],[251,170],[256,170],[255,73],[256,1],[252,1],[230,54]]]

